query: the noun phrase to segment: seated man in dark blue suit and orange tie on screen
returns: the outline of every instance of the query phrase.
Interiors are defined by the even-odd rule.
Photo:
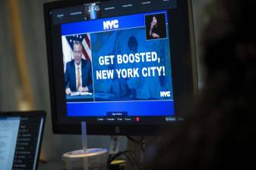
[[[73,44],[74,60],[66,64],[66,94],[71,94],[72,91],[93,91],[91,63],[82,59],[82,49],[82,43],[75,41]]]

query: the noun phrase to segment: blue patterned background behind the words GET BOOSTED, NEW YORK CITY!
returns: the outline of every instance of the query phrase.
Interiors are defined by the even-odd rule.
[[[122,29],[112,32],[90,34],[93,56],[94,93],[111,93],[108,100],[172,100],[172,73],[169,50],[169,39],[147,40],[145,27]],[[107,42],[107,43],[106,43]],[[118,54],[135,54],[156,52],[160,62],[117,63]],[[114,63],[100,65],[99,58],[114,55]],[[151,66],[164,66],[165,76],[144,77],[141,70]],[[139,76],[118,78],[115,70],[139,69]],[[113,79],[96,79],[96,71],[114,70]],[[158,73],[158,72],[155,72]],[[169,97],[161,97],[160,91],[169,91]],[[104,100],[95,98],[96,101]]]

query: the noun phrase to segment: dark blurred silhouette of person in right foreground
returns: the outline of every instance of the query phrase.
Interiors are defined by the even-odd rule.
[[[144,169],[256,169],[255,8],[255,0],[210,2],[204,89],[185,121],[146,152]]]

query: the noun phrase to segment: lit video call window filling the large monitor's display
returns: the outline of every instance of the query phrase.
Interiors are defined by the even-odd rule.
[[[77,11],[69,15],[67,9],[53,11],[61,31],[67,116],[99,122],[173,120],[168,11],[158,10],[158,2],[176,5],[164,0],[119,7],[96,2],[74,7]],[[148,12],[118,12],[135,5],[145,5]]]

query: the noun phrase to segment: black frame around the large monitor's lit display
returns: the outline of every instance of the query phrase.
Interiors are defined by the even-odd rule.
[[[54,77],[54,61],[52,50],[52,39],[50,31],[50,15],[49,12],[56,8],[67,8],[75,5],[83,5],[92,2],[106,2],[106,1],[93,1],[93,0],[76,0],[76,1],[60,1],[49,2],[44,4],[44,17],[46,26],[46,47],[48,57],[48,71],[49,71],[49,90],[51,99],[51,111],[52,111],[52,130],[55,134],[81,134],[80,122],[83,119],[73,119],[72,121],[60,121],[58,119],[58,113],[60,110],[65,110],[65,104],[60,104],[60,100],[56,97],[56,92],[59,91],[58,79]],[[173,97],[175,100],[175,113],[179,116],[179,101],[185,95],[193,96],[197,92],[197,70],[195,59],[195,47],[194,47],[194,26],[192,5],[187,0],[177,0],[178,8],[169,11],[169,17],[172,18],[172,22],[178,24],[179,31],[183,34],[175,34],[177,28],[169,26],[170,39],[178,41],[170,41],[171,46],[171,62],[172,62],[172,85],[173,85]],[[172,16],[172,14],[179,14],[179,18]],[[174,20],[174,21],[173,21]],[[176,26],[177,27],[177,26]],[[183,47],[181,49],[181,47]],[[179,57],[178,57],[179,56]],[[61,107],[61,108],[60,108]],[[175,122],[173,122],[175,123]],[[172,123],[167,124],[127,124],[120,125],[114,124],[91,124],[87,122],[88,134],[119,134],[119,135],[152,135],[157,134],[157,130],[160,128],[169,127]]]

